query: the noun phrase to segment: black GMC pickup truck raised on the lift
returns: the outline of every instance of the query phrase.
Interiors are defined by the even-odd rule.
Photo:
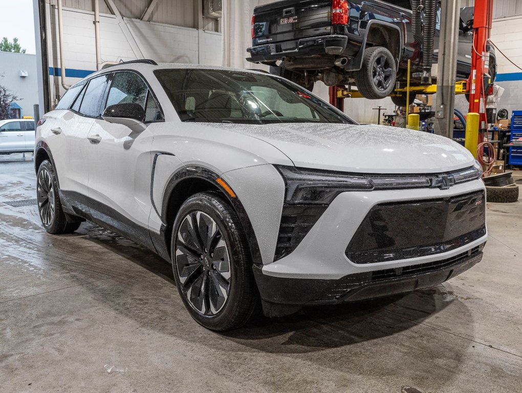
[[[413,84],[432,82],[424,76],[437,60],[441,9],[437,0],[431,0],[430,13],[428,4],[426,0],[282,0],[257,6],[247,60],[270,65],[270,72],[309,90],[321,80],[328,86],[355,85],[365,98],[384,98],[396,82],[406,85],[408,59]],[[457,80],[470,74],[472,15],[470,7],[461,10]],[[432,35],[424,33],[429,20]],[[489,61],[494,79],[493,50]],[[405,96],[392,100],[406,104]]]

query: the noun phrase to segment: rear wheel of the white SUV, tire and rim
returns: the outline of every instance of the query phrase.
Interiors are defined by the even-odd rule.
[[[58,182],[53,165],[43,160],[37,174],[38,213],[45,230],[52,234],[72,233],[80,222],[68,222],[58,195]]]

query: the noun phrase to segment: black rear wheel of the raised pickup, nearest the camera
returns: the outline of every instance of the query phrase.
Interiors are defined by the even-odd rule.
[[[395,59],[384,46],[364,50],[361,69],[355,73],[355,85],[364,98],[377,100],[388,97],[395,88]]]

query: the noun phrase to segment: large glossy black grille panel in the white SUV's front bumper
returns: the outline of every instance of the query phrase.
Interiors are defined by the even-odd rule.
[[[483,192],[375,206],[346,249],[356,264],[434,255],[486,233]]]

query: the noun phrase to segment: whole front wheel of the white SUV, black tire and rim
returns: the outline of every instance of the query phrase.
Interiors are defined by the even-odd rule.
[[[238,328],[256,314],[259,294],[237,213],[219,194],[188,198],[174,221],[172,269],[181,299],[204,327]]]

